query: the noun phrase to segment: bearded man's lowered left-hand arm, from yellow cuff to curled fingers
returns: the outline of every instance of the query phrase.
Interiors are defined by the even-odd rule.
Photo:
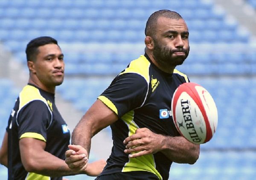
[[[66,163],[70,169],[79,170],[81,164],[76,163],[80,160],[79,154],[86,154],[89,157],[91,138],[116,120],[118,120],[116,113],[101,100],[96,100],[73,130],[71,139],[73,145],[70,145],[70,150],[66,152]]]

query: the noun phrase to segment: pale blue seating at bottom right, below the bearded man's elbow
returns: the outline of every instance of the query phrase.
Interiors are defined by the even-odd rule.
[[[252,180],[255,166],[255,151],[201,151],[193,165],[173,163],[170,180]]]

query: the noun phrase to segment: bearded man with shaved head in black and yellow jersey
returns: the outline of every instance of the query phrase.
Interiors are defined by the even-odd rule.
[[[175,69],[189,54],[189,30],[180,14],[151,14],[145,46],[145,54],[116,76],[74,129],[66,152],[71,169],[85,166],[76,164],[82,160],[77,152],[88,157],[91,138],[109,125],[113,148],[97,180],[168,180],[172,162],[198,159],[200,146],[180,136],[171,114],[175,89],[189,82]]]

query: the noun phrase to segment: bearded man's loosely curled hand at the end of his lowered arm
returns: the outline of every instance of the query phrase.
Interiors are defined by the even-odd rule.
[[[88,154],[80,145],[69,145],[70,150],[65,153],[65,162],[72,171],[82,171],[87,168]]]

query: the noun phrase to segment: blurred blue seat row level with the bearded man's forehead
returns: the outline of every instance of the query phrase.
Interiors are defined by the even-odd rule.
[[[44,31],[49,29],[61,31],[62,29],[65,29],[65,30],[77,32],[81,30],[91,31],[95,29],[101,29],[102,31],[103,30],[110,31],[113,29],[116,31],[124,31],[127,29],[141,31],[145,29],[145,20],[140,20],[136,18],[123,20],[119,17],[116,17],[116,19],[113,19],[113,20],[103,17],[102,19],[98,19],[97,21],[95,19],[89,19],[86,17],[82,18],[79,21],[72,17],[67,17],[64,20],[59,20],[57,18],[43,19],[40,17],[35,17],[33,19],[20,18],[19,21],[17,21],[16,18],[12,18],[12,17],[6,17],[6,18],[2,17],[1,22],[2,23],[0,24],[0,28],[6,29],[9,31],[12,31],[13,29],[27,30],[27,31],[31,31],[31,29],[34,29],[34,31]],[[204,31],[204,33],[207,33],[207,31],[210,31],[212,33],[215,32],[215,34],[216,34],[216,30],[224,29],[224,30],[234,31],[238,26],[238,24],[233,21],[228,22],[224,20],[214,20],[214,19],[199,20],[196,18],[195,19],[192,18],[192,19],[186,20],[186,23],[189,29],[192,29],[195,31],[197,30]],[[15,31],[12,31],[12,33],[13,32]]]

